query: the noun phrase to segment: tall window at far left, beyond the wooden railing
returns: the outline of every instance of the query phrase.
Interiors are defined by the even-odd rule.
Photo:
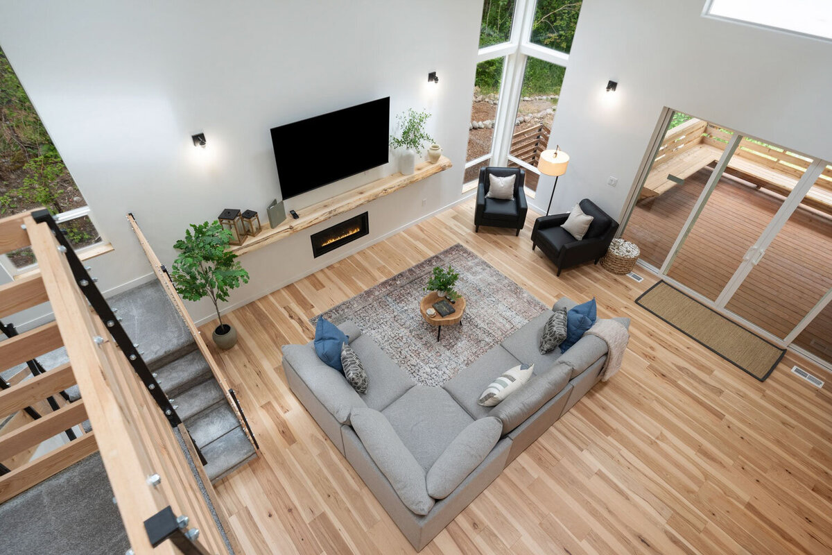
[[[77,250],[101,242],[87,201],[0,50],[0,217],[41,206],[62,224]],[[29,247],[0,255],[9,275],[36,262]]]

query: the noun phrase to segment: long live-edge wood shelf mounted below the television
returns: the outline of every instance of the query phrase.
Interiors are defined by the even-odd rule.
[[[451,166],[453,166],[451,161],[447,157],[442,156],[435,164],[430,162],[418,164],[416,171],[409,176],[394,173],[392,176],[371,181],[366,185],[350,189],[331,199],[307,206],[300,211],[300,218],[297,220],[291,216],[286,216],[285,221],[281,222],[274,229],[271,229],[268,224],[263,224],[263,230],[260,231],[260,234],[256,237],[249,237],[245,240],[245,243],[239,246],[233,246],[230,250],[236,255],[245,255],[247,252],[260,249],[265,245],[271,245],[275,241],[284,239],[293,233],[305,230],[307,227],[319,224],[322,221],[327,221],[329,218],[351,211],[382,196],[399,191],[399,189],[409,186],[416,181],[427,179],[440,171],[447,170]]]

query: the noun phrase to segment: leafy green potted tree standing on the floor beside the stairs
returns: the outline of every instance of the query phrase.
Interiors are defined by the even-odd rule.
[[[230,349],[237,342],[237,331],[222,321],[220,300],[228,300],[229,291],[249,282],[237,255],[228,250],[231,232],[220,222],[191,224],[185,239],[177,240],[173,248],[181,250],[173,262],[171,278],[176,290],[185,300],[208,297],[214,304],[220,325],[214,330],[214,343],[220,349]]]

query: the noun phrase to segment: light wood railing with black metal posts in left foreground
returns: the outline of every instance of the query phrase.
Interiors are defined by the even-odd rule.
[[[0,502],[98,450],[133,553],[225,553],[171,427],[171,414],[165,414],[150,386],[136,374],[126,354],[131,345],[116,343],[111,335],[115,322],[102,320],[88,307],[82,288],[95,285],[86,272],[87,277],[79,278],[77,256],[61,244],[62,234],[47,223],[49,217],[41,211],[0,220],[0,252],[31,245],[39,267],[37,275],[0,287],[0,314],[48,300],[55,315],[49,324],[2,341],[0,360],[14,366],[65,346],[70,362],[0,392],[0,413],[24,409],[72,384],[78,385],[82,399],[0,441],[5,448],[25,448],[84,419],[93,431],[0,476]],[[192,447],[179,426],[186,446]],[[210,489],[210,483],[203,485]],[[182,518],[176,528],[166,528],[171,513],[187,517],[187,523]]]

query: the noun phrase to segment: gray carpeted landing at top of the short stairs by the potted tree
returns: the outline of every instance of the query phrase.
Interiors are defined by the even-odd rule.
[[[185,322],[161,284],[152,280],[107,300],[150,369],[158,369],[196,349]]]

